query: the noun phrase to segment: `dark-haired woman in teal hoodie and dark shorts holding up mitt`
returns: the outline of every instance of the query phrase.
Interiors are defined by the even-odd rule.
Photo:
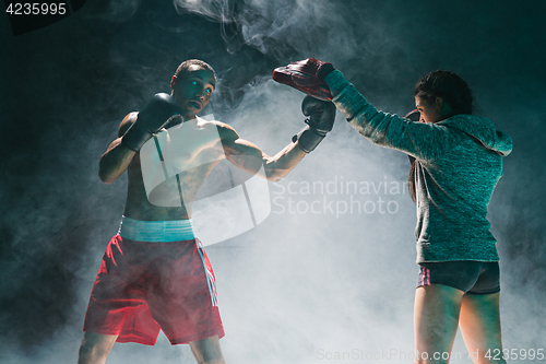
[[[319,79],[353,128],[415,158],[410,174],[420,268],[415,362],[448,363],[460,326],[474,363],[505,363],[499,256],[486,215],[511,138],[472,115],[471,91],[453,72],[435,71],[418,81],[419,122],[377,110],[340,71],[317,62]]]

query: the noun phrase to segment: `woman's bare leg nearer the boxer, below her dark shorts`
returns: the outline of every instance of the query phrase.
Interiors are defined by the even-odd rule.
[[[430,284],[415,291],[415,363],[449,363],[463,291]]]

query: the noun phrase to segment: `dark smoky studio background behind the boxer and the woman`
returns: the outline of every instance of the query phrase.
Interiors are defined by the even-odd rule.
[[[463,77],[477,114],[514,142],[489,208],[505,347],[546,349],[546,2],[183,4],[177,12],[169,1],[87,0],[73,15],[19,36],[0,16],[1,363],[75,363],[94,275],[126,193],[124,176],[109,186],[98,179],[98,160],[123,116],[168,92],[189,58],[216,70],[209,111],[270,155],[302,127],[302,95],[271,81],[289,61],[331,61],[376,107],[399,115],[414,108],[413,85],[426,72]],[[334,176],[403,181],[407,172],[405,155],[371,144],[337,115],[331,136],[281,185]],[[395,215],[272,213],[207,247],[228,362],[321,362],[319,350],[353,348],[410,352],[415,212],[407,196],[393,198]],[[157,345],[118,344],[108,363],[191,360],[188,349]],[[456,350],[464,352],[460,338]]]

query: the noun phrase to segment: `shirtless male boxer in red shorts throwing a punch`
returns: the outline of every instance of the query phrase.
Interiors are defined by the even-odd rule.
[[[332,129],[335,109],[332,103],[306,96],[301,109],[308,125],[290,144],[269,156],[228,125],[197,116],[211,99],[215,83],[207,63],[182,62],[170,81],[171,94],[156,94],[140,113],[127,115],[119,138],[100,158],[105,184],[127,169],[129,185],[120,230],[108,244],[91,294],[80,364],[105,363],[116,341],[153,345],[161,329],[171,344],[189,343],[198,363],[225,363],[214,273],[193,236],[191,202],[224,155],[240,169],[256,174],[264,168],[269,180],[280,180]],[[163,138],[164,154],[181,151],[176,158],[181,173],[171,178],[179,204],[153,204],[146,195],[141,148],[144,151],[154,142],[159,146],[159,136],[182,126],[195,136],[210,136],[214,129],[217,140],[192,138],[188,146]]]

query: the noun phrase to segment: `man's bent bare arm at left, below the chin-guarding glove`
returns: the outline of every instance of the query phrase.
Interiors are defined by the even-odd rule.
[[[98,176],[100,180],[109,185],[115,181],[123,172],[126,172],[129,163],[133,160],[136,152],[127,148],[122,142],[121,138],[126,131],[131,127],[131,125],[136,120],[138,113],[128,114],[118,130],[118,138],[115,139],[106,152],[100,157],[98,163]]]

